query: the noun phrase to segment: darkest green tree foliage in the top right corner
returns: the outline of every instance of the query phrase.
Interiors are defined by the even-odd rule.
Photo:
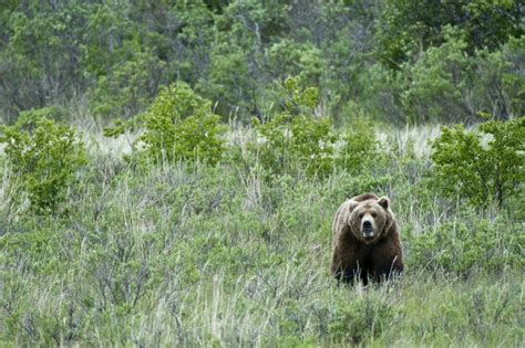
[[[497,49],[511,36],[524,33],[518,1],[475,0],[434,1],[394,0],[385,2],[375,27],[375,54],[385,64],[398,68],[406,60],[439,46],[443,30],[451,25],[466,33],[469,52]]]

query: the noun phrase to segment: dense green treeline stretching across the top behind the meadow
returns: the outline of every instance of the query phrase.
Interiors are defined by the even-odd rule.
[[[524,6],[475,1],[2,1],[0,117],[70,102],[101,120],[188,83],[225,119],[282,107],[284,81],[317,113],[392,123],[524,114]]]

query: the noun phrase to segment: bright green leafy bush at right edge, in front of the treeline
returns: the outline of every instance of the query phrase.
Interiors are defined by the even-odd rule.
[[[525,177],[525,117],[487,122],[480,131],[490,136],[486,146],[462,125],[444,127],[432,144],[433,172],[445,196],[460,196],[475,207],[496,202],[502,208]]]

